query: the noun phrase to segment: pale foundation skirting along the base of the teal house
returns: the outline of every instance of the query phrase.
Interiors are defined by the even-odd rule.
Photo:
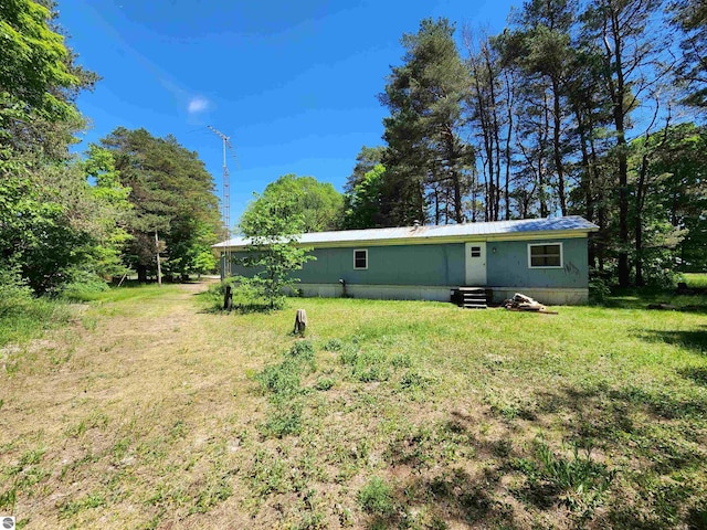
[[[436,300],[450,301],[451,289],[458,285],[362,285],[347,284],[346,296],[382,300]],[[541,304],[562,306],[587,304],[589,289],[552,287],[487,287],[492,289],[494,303],[502,303],[516,293],[530,296]],[[340,298],[345,296],[340,284],[297,284],[295,289],[305,297]]]

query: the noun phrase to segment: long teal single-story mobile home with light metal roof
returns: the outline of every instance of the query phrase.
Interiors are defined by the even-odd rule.
[[[544,304],[589,297],[588,237],[599,227],[580,216],[346,230],[303,234],[316,261],[297,273],[304,296],[450,301],[453,289],[483,287],[494,301],[524,293]],[[247,239],[214,245],[222,274],[238,264]],[[231,264],[225,264],[225,256]]]

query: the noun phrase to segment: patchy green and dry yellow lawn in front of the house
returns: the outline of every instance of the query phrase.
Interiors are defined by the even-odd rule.
[[[102,530],[707,524],[699,312],[219,315],[202,289],[116,294],[12,352],[0,512]]]

